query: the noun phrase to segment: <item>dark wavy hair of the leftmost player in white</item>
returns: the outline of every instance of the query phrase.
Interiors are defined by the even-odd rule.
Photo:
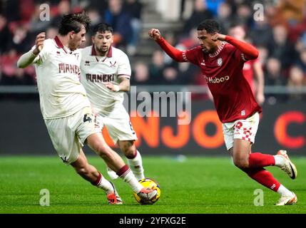
[[[84,12],[77,14],[66,14],[61,19],[58,33],[62,36],[65,36],[70,31],[78,33],[81,31],[82,25],[86,28],[86,31],[88,31],[90,24],[91,19]]]

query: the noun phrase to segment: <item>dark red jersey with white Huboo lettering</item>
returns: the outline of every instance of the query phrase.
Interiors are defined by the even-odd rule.
[[[200,66],[222,123],[246,119],[262,111],[243,76],[243,65],[247,60],[238,48],[222,42],[213,54],[204,53],[198,46],[183,51],[182,55],[184,61]]]

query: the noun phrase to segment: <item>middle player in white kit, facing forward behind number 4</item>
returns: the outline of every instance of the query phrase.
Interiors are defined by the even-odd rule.
[[[123,106],[123,94],[130,90],[131,65],[128,56],[111,46],[113,28],[106,23],[93,28],[92,41],[92,46],[82,50],[81,83],[101,123],[128,158],[134,175],[141,180],[145,176],[141,154],[135,146],[137,136]],[[108,175],[112,179],[118,177],[109,168]]]

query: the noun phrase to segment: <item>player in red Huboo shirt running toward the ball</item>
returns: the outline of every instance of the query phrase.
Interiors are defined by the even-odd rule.
[[[287,190],[263,168],[275,165],[295,179],[297,170],[287,152],[280,150],[277,155],[251,152],[262,109],[243,76],[243,65],[246,61],[257,58],[258,51],[250,44],[220,34],[219,31],[217,21],[203,21],[198,26],[200,45],[187,51],[171,46],[156,28],[149,31],[149,36],[175,61],[200,66],[213,95],[219,119],[223,123],[225,145],[233,156],[235,166],[261,185],[280,193],[281,197],[276,205],[295,204],[295,193]]]

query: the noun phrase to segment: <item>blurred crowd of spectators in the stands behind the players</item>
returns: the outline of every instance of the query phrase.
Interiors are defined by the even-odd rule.
[[[41,21],[39,6],[48,3],[50,21]],[[254,20],[263,6],[263,20]],[[185,1],[180,0],[180,33],[163,33],[180,50],[198,45],[196,27],[205,19],[217,19],[221,33],[228,33],[233,23],[243,25],[246,40],[260,51],[260,63],[266,86],[306,86],[306,0],[194,0],[193,12],[183,17]],[[35,84],[33,67],[19,69],[16,61],[34,44],[35,36],[46,31],[48,38],[57,33],[61,16],[86,10],[92,26],[106,21],[114,28],[114,46],[123,48],[131,59],[132,85],[205,85],[198,67],[175,63],[155,48],[151,61],[139,61],[144,3],[141,0],[0,0],[0,85]],[[153,43],[153,42],[152,42]],[[91,45],[90,35],[84,46]],[[157,46],[156,46],[157,47]],[[135,61],[134,61],[135,57]],[[141,56],[138,56],[141,57]],[[271,94],[270,94],[271,95]],[[284,95],[274,97],[287,99]],[[305,95],[292,95],[303,99]]]

